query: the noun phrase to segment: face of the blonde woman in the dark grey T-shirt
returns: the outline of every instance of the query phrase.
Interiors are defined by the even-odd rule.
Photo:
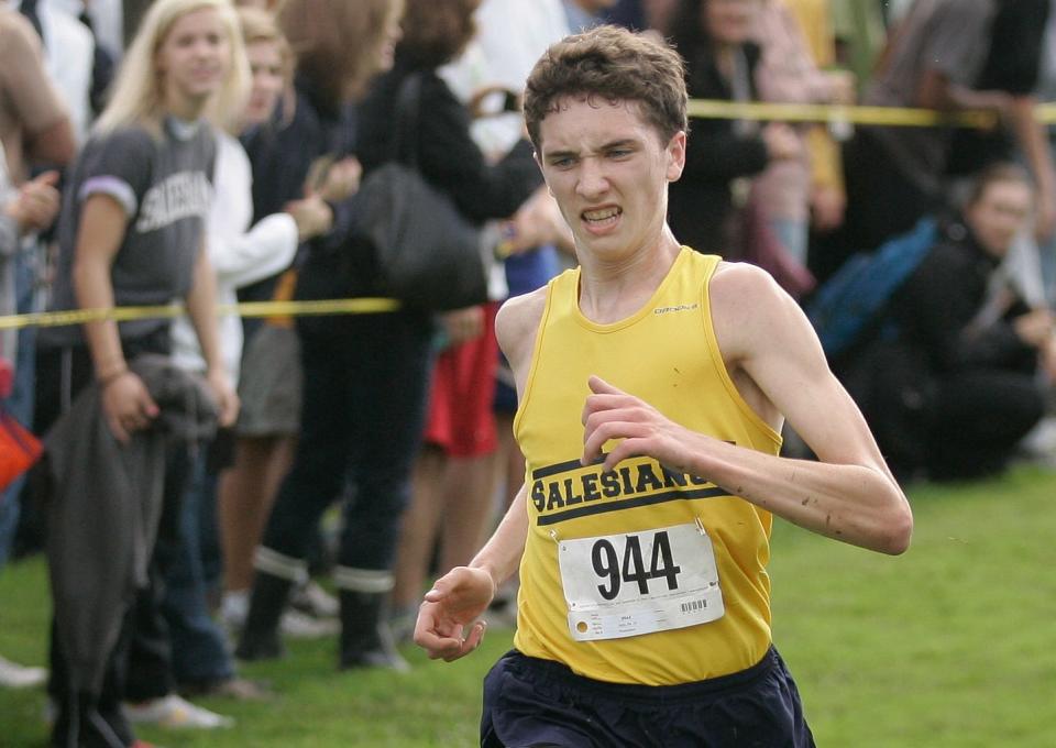
[[[157,50],[156,65],[169,110],[188,119],[200,114],[231,66],[220,13],[202,8],[177,20]]]

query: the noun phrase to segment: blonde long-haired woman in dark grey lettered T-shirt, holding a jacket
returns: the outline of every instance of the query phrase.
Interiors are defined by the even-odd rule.
[[[239,404],[221,358],[216,280],[202,246],[216,153],[212,123],[228,121],[229,108],[241,108],[248,70],[238,19],[228,0],[157,0],[150,8],[125,54],[110,103],[69,175],[53,289],[56,309],[183,300],[206,362],[202,393],[215,402],[220,425],[234,420]],[[98,320],[82,327],[51,328],[41,336],[40,345],[45,362],[41,386],[46,393],[54,393],[56,402],[69,402],[81,391],[88,398],[96,397],[98,408],[92,413],[105,425],[100,433],[112,439],[100,437],[98,449],[110,453],[103,457],[106,453],[97,450],[92,457],[112,457],[114,462],[123,462],[128,459],[124,455],[134,453],[136,440],[146,438],[141,435],[150,435],[164,415],[156,399],[157,383],[144,373],[146,359],[140,356],[161,354],[153,361],[164,365],[170,355],[168,320],[138,319],[120,324]],[[188,375],[188,392],[200,387],[196,382]],[[77,413],[74,408],[68,415]],[[68,420],[67,417],[56,426]],[[67,438],[56,440],[50,448],[53,453],[61,453],[75,443],[76,438]],[[164,477],[162,501],[167,505],[182,482],[170,480],[180,472],[180,462],[185,461],[167,459],[158,469],[164,470],[164,476],[134,475],[123,487],[127,493],[146,496],[148,486]],[[85,465],[84,470],[91,471],[92,465]],[[119,485],[91,481],[85,488],[84,482],[79,487],[68,485],[75,483],[69,474],[55,477],[57,494],[97,494],[90,498],[101,503],[100,510],[123,501]],[[144,507],[143,512],[146,517],[152,516],[151,512],[155,517],[175,517],[175,513],[160,512],[158,507]],[[125,525],[134,525],[134,519]],[[91,642],[92,653],[106,663],[105,673],[80,672],[79,656],[84,652],[73,650],[75,638],[63,628],[80,613],[70,609],[78,598],[63,591],[66,585],[76,585],[72,578],[82,580],[97,591],[96,605],[109,606],[107,614],[113,620],[127,620],[130,603],[125,596],[114,594],[116,590],[120,593],[124,579],[120,574],[114,579],[109,568],[101,562],[95,565],[92,559],[106,558],[108,553],[117,556],[114,544],[127,542],[134,531],[153,538],[155,528],[145,520],[134,530],[116,526],[107,529],[106,537],[95,538],[86,537],[87,530],[78,534],[73,527],[68,537],[57,535],[61,531],[53,527],[48,542],[56,608],[52,695],[58,708],[52,743],[129,746],[134,738],[121,710],[125,684],[119,664],[128,632],[117,638],[102,636]],[[160,535],[166,536],[168,529],[163,526]],[[81,551],[74,564],[70,547]],[[70,565],[77,569],[72,570]],[[116,623],[114,630],[127,626]],[[82,646],[84,637],[80,641]],[[139,671],[134,674],[143,676]],[[157,701],[173,707],[176,696],[169,679],[167,671],[157,674]],[[191,716],[217,716],[186,707],[190,707]],[[188,710],[177,712],[187,714]],[[221,724],[219,719],[205,718],[199,723],[196,726]]]

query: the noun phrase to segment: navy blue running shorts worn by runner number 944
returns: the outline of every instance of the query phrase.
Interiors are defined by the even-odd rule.
[[[604,683],[513,650],[484,679],[482,748],[813,748],[778,651],[679,685]]]

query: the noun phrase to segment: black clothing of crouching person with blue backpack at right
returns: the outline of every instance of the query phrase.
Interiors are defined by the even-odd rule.
[[[1034,389],[1037,354],[1012,326],[1027,311],[1022,301],[980,315],[998,261],[963,222],[947,220],[939,229],[931,252],[890,299],[888,324],[838,374],[893,470],[910,474],[926,465],[935,475],[970,475],[1003,464],[1040,417],[1041,393],[1036,403],[1022,394]],[[970,375],[1002,384],[979,391],[972,383],[980,380]],[[1018,414],[1010,415],[1018,426],[992,438],[966,433],[964,416],[949,420],[950,413],[1007,407]]]

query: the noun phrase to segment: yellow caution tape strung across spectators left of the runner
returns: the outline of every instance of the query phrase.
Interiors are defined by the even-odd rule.
[[[289,315],[296,317],[307,315],[376,315],[385,311],[395,311],[399,309],[400,306],[398,300],[386,298],[323,299],[319,301],[249,301],[244,304],[220,305],[217,308],[217,314],[239,315],[241,317],[271,317],[273,315]],[[107,309],[41,311],[30,315],[0,317],[0,330],[25,327],[84,324],[85,322],[94,322],[102,319],[112,319],[118,322],[139,319],[166,319],[179,317],[183,314],[184,307],[178,304],[155,307],[110,307]]]

